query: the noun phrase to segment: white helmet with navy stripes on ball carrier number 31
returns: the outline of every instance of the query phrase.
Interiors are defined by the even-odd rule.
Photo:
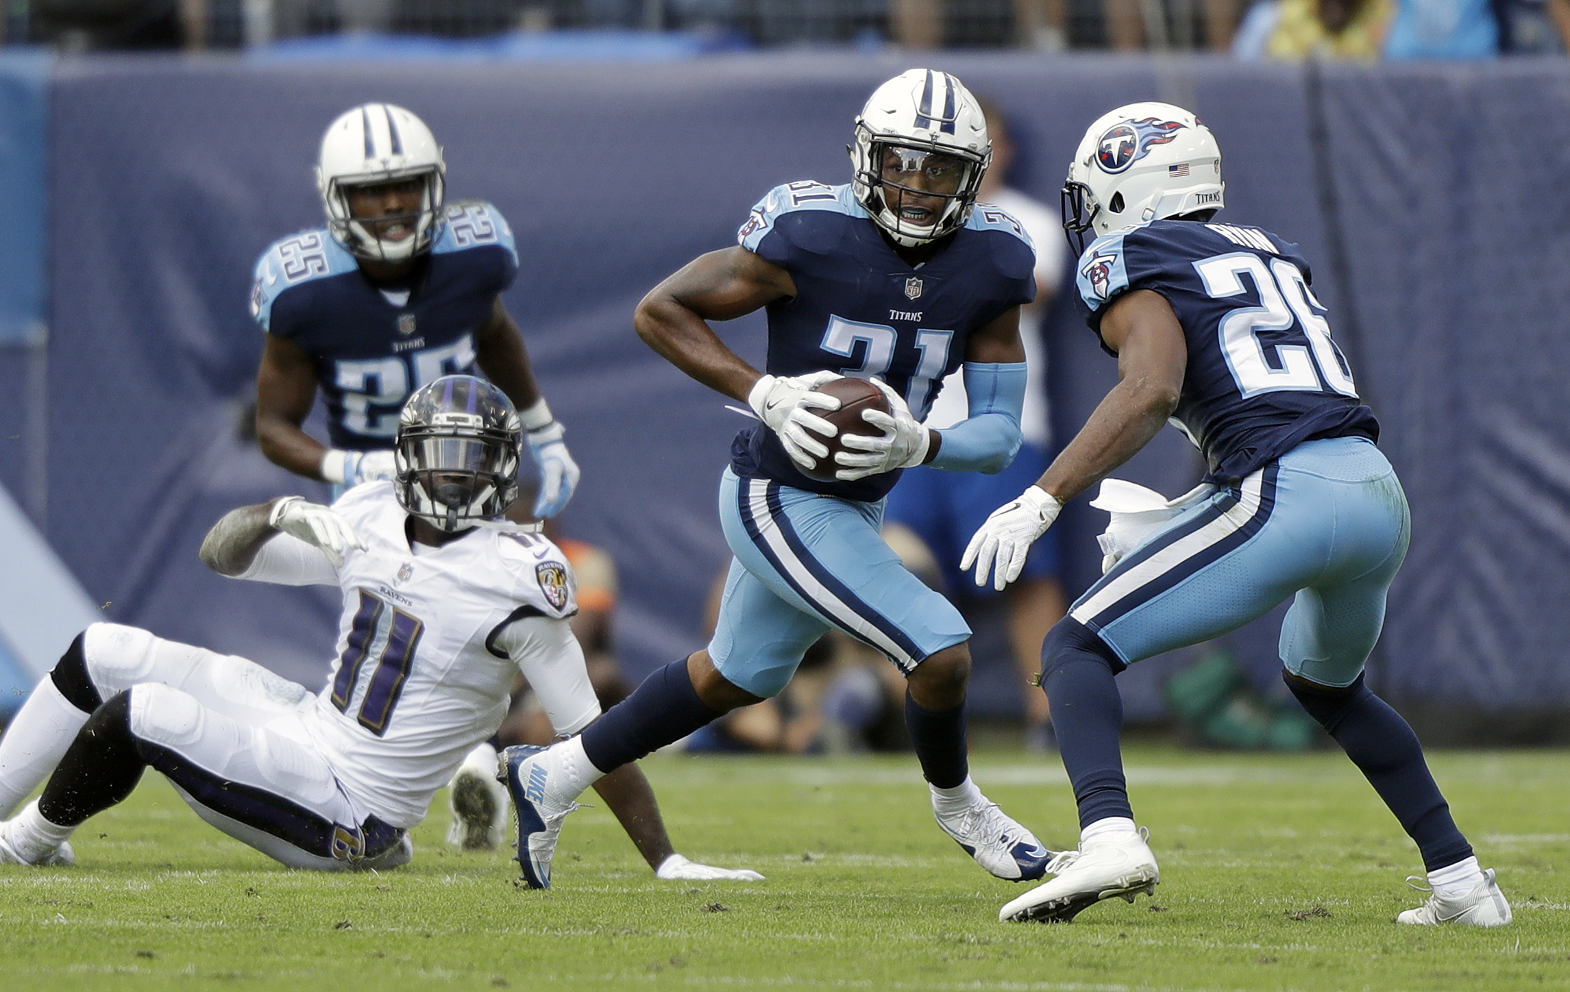
[[[848,151],[856,199],[906,248],[964,226],[992,160],[981,105],[964,83],[934,69],[909,69],[878,86]],[[890,176],[920,176],[922,188]],[[933,210],[920,199],[906,202],[911,196],[944,202]]]

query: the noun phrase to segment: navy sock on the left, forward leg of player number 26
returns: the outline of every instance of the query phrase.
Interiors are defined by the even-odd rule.
[[[1108,816],[1134,819],[1123,777],[1123,697],[1115,672],[1126,666],[1083,623],[1064,617],[1041,645],[1041,687],[1052,706],[1058,755],[1074,785],[1080,827]]]

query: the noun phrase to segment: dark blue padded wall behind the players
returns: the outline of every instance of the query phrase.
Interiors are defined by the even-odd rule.
[[[1017,181],[1044,199],[1104,110],[1167,99],[1199,111],[1226,154],[1226,217],[1300,242],[1316,264],[1413,502],[1375,681],[1410,711],[1570,706],[1570,67],[929,61],[1014,118]],[[50,542],[105,615],[320,680],[334,598],[220,579],[195,553],[229,507],[317,493],[239,439],[261,348],[250,268],[270,240],[317,223],[311,163],[325,122],[392,100],[443,140],[451,195],[491,199],[518,235],[506,301],[584,466],[567,529],[622,567],[628,667],[692,650],[725,559],[714,483],[739,419],[648,352],[630,314],[666,273],[732,243],[771,185],[845,181],[862,99],[911,63],[58,63]],[[758,320],[724,334],[758,356]],[[1066,314],[1050,347],[1068,436],[1115,367]],[[16,361],[0,356],[0,381],[16,381]],[[0,403],[0,436],[19,418]],[[1121,474],[1187,488],[1195,460],[1168,433]],[[16,458],[0,480],[22,491]],[[1075,505],[1061,526],[1071,585],[1083,587],[1099,515]],[[1265,670],[1272,637],[1256,626],[1240,640]],[[1126,684],[1137,711],[1154,705],[1140,678]]]

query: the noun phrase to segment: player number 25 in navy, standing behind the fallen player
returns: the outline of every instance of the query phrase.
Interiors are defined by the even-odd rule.
[[[449,206],[441,146],[424,121],[391,104],[364,104],[333,121],[316,176],[327,228],[281,239],[256,262],[262,452],[336,487],[391,479],[403,400],[479,364],[517,405],[539,455],[534,515],[559,513],[578,466],[501,303],[518,275],[501,212],[479,201]],[[300,429],[317,388],[331,447]]]

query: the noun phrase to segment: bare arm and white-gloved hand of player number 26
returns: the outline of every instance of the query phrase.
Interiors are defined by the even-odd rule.
[[[1148,289],[1119,297],[1101,320],[1101,337],[1118,353],[1118,385],[1041,479],[970,538],[959,567],[975,565],[977,585],[986,585],[989,573],[995,589],[1019,578],[1025,553],[1063,504],[1138,454],[1178,408],[1188,345],[1165,297]]]

